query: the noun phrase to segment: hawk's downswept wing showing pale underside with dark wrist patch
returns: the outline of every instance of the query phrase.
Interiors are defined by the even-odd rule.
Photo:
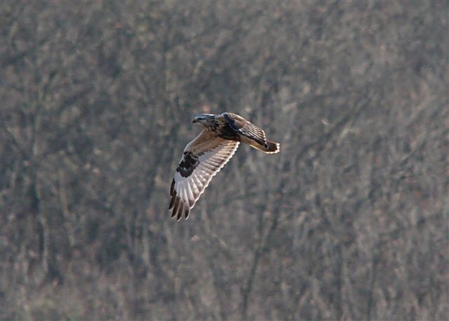
[[[234,155],[239,142],[212,136],[203,130],[184,149],[180,164],[170,188],[172,217],[179,221],[182,214],[189,216],[190,209],[199,199],[213,176]]]

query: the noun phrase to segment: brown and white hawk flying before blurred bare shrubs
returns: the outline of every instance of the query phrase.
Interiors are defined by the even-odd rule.
[[[187,144],[177,165],[170,187],[172,216],[180,220],[189,216],[213,176],[234,155],[240,143],[246,143],[267,154],[279,152],[279,143],[267,140],[264,131],[233,114],[197,114],[194,123],[203,130]]]

